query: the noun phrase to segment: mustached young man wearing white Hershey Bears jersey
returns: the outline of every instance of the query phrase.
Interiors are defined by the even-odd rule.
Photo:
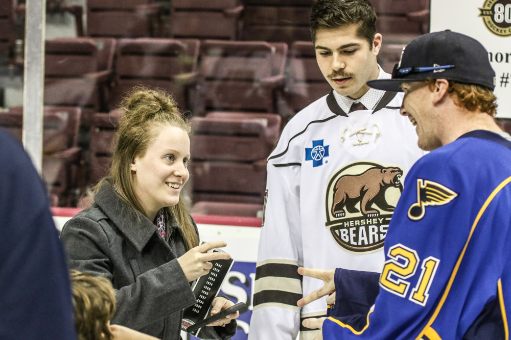
[[[379,275],[404,178],[424,154],[399,113],[402,95],[366,85],[390,78],[377,64],[382,36],[369,1],[318,0],[311,33],[333,91],[290,120],[268,158],[249,340],[314,338],[300,321],[326,316],[326,303],[297,306],[321,287],[299,267]],[[363,286],[360,294],[374,301]],[[369,307],[346,302],[344,312]]]

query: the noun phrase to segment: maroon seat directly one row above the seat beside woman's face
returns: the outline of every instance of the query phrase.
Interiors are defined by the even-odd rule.
[[[277,112],[287,44],[205,40],[201,43],[194,113]]]

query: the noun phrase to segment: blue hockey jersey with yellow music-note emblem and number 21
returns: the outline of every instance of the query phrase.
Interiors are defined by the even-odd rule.
[[[483,130],[415,163],[374,306],[363,320],[327,319],[323,339],[508,339],[510,182],[511,142]]]

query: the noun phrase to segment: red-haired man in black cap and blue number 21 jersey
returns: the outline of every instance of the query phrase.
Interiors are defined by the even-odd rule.
[[[407,175],[379,277],[299,270],[326,282],[301,303],[335,291],[330,317],[304,326],[322,328],[315,339],[507,339],[511,137],[493,118],[487,51],[462,34],[426,34],[406,46],[392,79],[367,84],[405,93],[401,114],[431,152]],[[376,300],[360,294],[368,275]],[[347,316],[350,305],[367,310]]]

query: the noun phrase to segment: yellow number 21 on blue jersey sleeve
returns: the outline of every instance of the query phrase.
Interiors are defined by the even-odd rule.
[[[419,255],[415,250],[397,244],[390,247],[387,256],[390,259],[385,261],[380,286],[392,294],[406,298],[410,287],[410,282],[407,279],[415,275],[417,267],[419,267]],[[440,260],[433,256],[422,261],[421,276],[417,285],[410,292],[408,300],[421,306],[426,305],[429,297],[428,291],[439,263]]]

